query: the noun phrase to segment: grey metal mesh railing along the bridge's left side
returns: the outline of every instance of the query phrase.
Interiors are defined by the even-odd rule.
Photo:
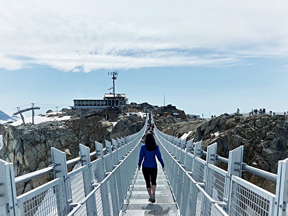
[[[20,196],[16,196],[13,164],[0,159],[4,176],[0,180],[0,215],[4,212],[5,216],[119,215],[134,175],[136,165],[133,168],[131,165],[137,164],[145,126],[135,134],[117,139],[116,143],[105,141],[105,148],[95,142],[96,150],[92,153],[79,144],[80,156],[69,161],[64,152],[51,148],[51,166],[16,180],[23,183],[51,171],[54,180]],[[90,156],[98,159],[91,162]],[[67,164],[77,162],[80,167],[68,173]]]

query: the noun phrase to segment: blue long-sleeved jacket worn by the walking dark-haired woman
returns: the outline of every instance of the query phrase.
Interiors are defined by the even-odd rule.
[[[157,146],[154,151],[147,151],[145,144],[141,145],[138,167],[141,167],[143,158],[144,158],[144,161],[143,161],[142,166],[149,167],[149,168],[157,167],[155,155],[157,156],[162,167],[164,167],[164,162],[161,157],[159,146]]]

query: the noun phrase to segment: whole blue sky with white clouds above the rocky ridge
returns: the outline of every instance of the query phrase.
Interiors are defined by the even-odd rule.
[[[287,1],[6,1],[0,110],[45,113],[112,86],[129,103],[221,115],[288,110]],[[31,113],[25,113],[31,116]]]

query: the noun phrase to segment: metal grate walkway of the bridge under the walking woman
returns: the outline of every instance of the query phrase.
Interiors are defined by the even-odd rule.
[[[135,171],[120,216],[179,216],[176,202],[173,199],[168,180],[158,164],[157,187],[155,192],[156,202],[148,202],[148,192],[142,173],[142,168]]]

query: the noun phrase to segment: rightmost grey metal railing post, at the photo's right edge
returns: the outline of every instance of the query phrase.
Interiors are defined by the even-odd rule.
[[[278,163],[274,215],[285,216],[288,213],[288,158]]]

